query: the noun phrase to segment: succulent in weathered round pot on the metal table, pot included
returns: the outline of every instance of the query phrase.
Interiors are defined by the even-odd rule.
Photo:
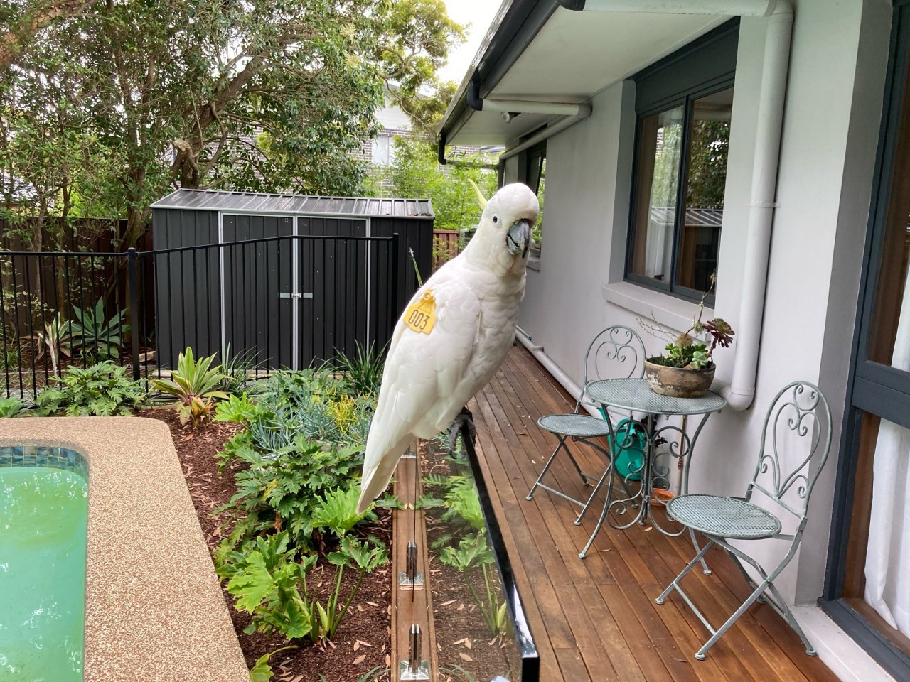
[[[712,285],[714,276],[712,276]],[[709,289],[710,291],[710,289]],[[707,296],[707,292],[705,292]],[[642,328],[652,336],[669,341],[662,356],[649,357],[644,363],[644,376],[654,393],[673,397],[703,396],[714,378],[714,348],[726,348],[733,341],[733,327],[723,318],[702,322],[704,296],[692,326],[674,336],[671,329],[639,319]],[[693,336],[696,335],[696,336]],[[710,346],[705,339],[710,339]]]

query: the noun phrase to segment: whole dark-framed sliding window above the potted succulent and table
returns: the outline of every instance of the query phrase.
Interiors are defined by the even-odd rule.
[[[738,23],[636,76],[626,278],[698,300],[717,268]]]

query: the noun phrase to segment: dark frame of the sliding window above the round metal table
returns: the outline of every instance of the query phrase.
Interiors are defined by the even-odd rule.
[[[739,19],[734,18],[713,31],[685,45],[672,55],[664,57],[637,75],[632,76],[636,84],[635,94],[635,140],[632,158],[632,191],[629,202],[629,226],[626,239],[624,279],[638,286],[661,291],[669,296],[699,302],[704,296],[708,306],[714,305],[713,292],[705,296],[703,291],[677,285],[679,273],[679,248],[682,226],[685,219],[682,207],[689,176],[690,128],[693,103],[705,96],[733,87],[736,75],[736,50],[739,45]],[[683,107],[682,155],[676,185],[675,214],[673,218],[673,239],[671,270],[667,282],[632,272],[632,251],[635,236],[635,206],[639,192],[639,170],[641,159],[639,148],[642,142],[642,123],[649,116],[660,114],[677,106]],[[718,253],[720,260],[720,253]]]

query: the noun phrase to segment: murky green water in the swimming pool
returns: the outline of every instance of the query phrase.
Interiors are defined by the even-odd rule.
[[[0,682],[78,682],[86,610],[86,479],[0,467]]]

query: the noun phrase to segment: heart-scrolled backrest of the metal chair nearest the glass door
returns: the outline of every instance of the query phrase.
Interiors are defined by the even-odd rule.
[[[830,450],[831,409],[818,386],[805,381],[784,386],[764,417],[758,464],[746,499],[759,490],[802,524]]]

